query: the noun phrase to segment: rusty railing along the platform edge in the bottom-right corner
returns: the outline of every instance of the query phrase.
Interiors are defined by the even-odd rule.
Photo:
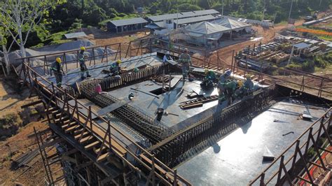
[[[321,152],[332,153],[327,147],[332,145],[330,138],[329,128],[332,120],[332,108],[329,108],[324,115],[319,117],[308,127],[303,134],[301,134],[296,141],[291,143],[279,157],[277,157],[268,167],[266,167],[259,175],[251,180],[249,185],[283,185],[288,182],[289,185],[294,185],[296,180],[304,181],[311,185],[314,183],[314,177],[310,173],[310,165],[318,166],[321,169],[328,169],[330,162],[324,162],[321,157]],[[328,142],[327,147],[317,144],[321,138],[326,138]],[[302,143],[304,141],[304,143]],[[302,144],[301,144],[302,143]],[[324,144],[324,143],[323,143]],[[308,157],[308,150],[312,146],[315,155],[314,157]],[[287,155],[290,155],[288,159],[285,159]],[[317,164],[314,159],[318,159],[320,164]],[[279,167],[277,171],[270,171],[272,167]],[[304,170],[303,170],[304,169]],[[303,178],[299,175],[306,173],[307,178]]]

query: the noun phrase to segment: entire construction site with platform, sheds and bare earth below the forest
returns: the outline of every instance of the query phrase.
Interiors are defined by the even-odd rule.
[[[12,52],[0,113],[27,125],[1,119],[0,185],[332,185],[332,64],[304,65],[331,54],[332,16],[314,16],[134,17]]]

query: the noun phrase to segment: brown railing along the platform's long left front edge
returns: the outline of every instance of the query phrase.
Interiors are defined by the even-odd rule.
[[[34,87],[34,89],[39,92],[40,96],[42,96],[43,99],[48,100],[49,104],[52,103],[53,105],[59,106],[62,111],[72,116],[73,119],[76,120],[76,122],[81,124],[83,127],[87,127],[86,125],[89,124],[88,126],[90,128],[90,133],[92,133],[96,138],[98,138],[103,145],[107,143],[109,147],[116,148],[110,143],[110,140],[106,141],[106,138],[115,138],[117,143],[122,144],[122,148],[125,148],[128,155],[133,157],[135,162],[139,163],[140,166],[143,166],[145,169],[150,171],[149,176],[144,175],[144,173],[140,171],[137,166],[132,164],[126,157],[120,155],[118,157],[120,159],[123,159],[123,161],[126,162],[126,164],[132,169],[140,173],[141,176],[144,176],[148,180],[148,182],[155,185],[155,178],[159,178],[162,183],[165,183],[166,185],[191,185],[191,183],[189,183],[187,180],[177,175],[176,169],[170,169],[170,167],[160,162],[160,160],[156,159],[154,155],[146,151],[135,141],[132,141],[129,136],[123,134],[123,132],[117,129],[117,127],[114,127],[111,122],[106,121],[103,117],[100,117],[97,113],[92,111],[91,107],[83,105],[82,103],[77,101],[76,98],[68,94],[66,90],[62,90],[59,87],[53,85],[53,83],[46,80],[46,78],[43,78],[43,76],[41,76],[39,73],[36,73],[36,71],[34,71],[34,69],[32,69],[28,64],[22,64],[22,71],[25,75],[25,78],[27,78],[27,83],[29,83],[30,86]],[[40,80],[43,80],[43,83],[46,83],[48,85],[44,85],[43,83],[41,83]],[[74,104],[70,104],[69,100],[74,100]],[[49,107],[50,106],[47,106],[46,109],[48,110]],[[85,113],[88,113],[88,115],[86,115]],[[75,115],[76,117],[74,117]],[[92,115],[96,115],[99,120],[107,123],[108,128],[104,129],[104,127],[92,120]],[[82,123],[79,118],[83,119],[85,123]],[[50,118],[48,118],[48,120],[52,122]],[[100,136],[100,134],[97,134],[94,130],[95,127],[99,131],[102,131],[104,136]],[[137,154],[137,152],[132,152],[132,149],[127,147],[127,145],[123,141],[121,141],[115,135],[111,135],[112,131],[116,131],[116,133],[120,134],[121,137],[125,138],[127,141],[130,141],[130,143],[132,143],[137,149],[139,149],[141,153]]]

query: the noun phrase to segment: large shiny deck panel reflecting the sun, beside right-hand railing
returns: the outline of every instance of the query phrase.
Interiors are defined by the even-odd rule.
[[[314,109],[300,101],[280,101],[180,164],[177,171],[193,185],[247,185],[270,163],[262,161],[265,147],[277,157],[312,124],[311,121],[298,120],[298,115],[306,111],[317,120],[325,110]],[[289,131],[293,134],[282,136]],[[290,156],[291,152],[285,155],[285,159]],[[276,165],[269,171],[277,169]]]

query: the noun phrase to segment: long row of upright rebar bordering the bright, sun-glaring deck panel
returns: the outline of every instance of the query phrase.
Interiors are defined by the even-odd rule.
[[[262,110],[273,102],[275,91],[272,88],[259,90],[254,93],[251,99],[242,100],[223,110],[216,111],[209,117],[202,118],[190,127],[179,131],[164,141],[153,145],[148,149],[155,157],[158,157],[168,166],[179,164],[186,152],[197,145],[209,140],[216,134],[228,134],[237,126],[235,122],[244,120],[245,117],[256,111]]]

